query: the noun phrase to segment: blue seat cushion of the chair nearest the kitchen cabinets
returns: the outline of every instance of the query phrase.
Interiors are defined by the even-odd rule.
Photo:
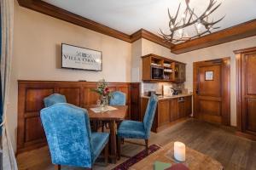
[[[143,122],[121,122],[118,130],[118,136],[125,139],[146,139]]]

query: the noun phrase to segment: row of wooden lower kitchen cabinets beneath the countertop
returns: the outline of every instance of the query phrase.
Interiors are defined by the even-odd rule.
[[[148,98],[141,98],[141,121],[147,108]],[[159,99],[154,116],[152,131],[160,132],[174,122],[188,117],[192,113],[192,96]]]

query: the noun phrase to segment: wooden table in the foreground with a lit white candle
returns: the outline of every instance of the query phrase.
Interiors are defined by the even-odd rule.
[[[137,162],[131,170],[150,170],[154,169],[154,161],[162,161],[166,163],[176,164],[177,161],[173,158],[173,142],[166,144],[160,150],[155,151],[142,161]],[[186,147],[186,161],[184,165],[190,170],[222,170],[223,166],[210,156],[206,156],[196,150]]]

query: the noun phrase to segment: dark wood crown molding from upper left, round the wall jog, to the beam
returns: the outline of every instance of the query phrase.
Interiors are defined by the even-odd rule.
[[[73,14],[67,10],[55,7],[54,5],[45,3],[44,1],[41,1],[41,0],[18,0],[18,3],[20,4],[21,7],[29,8],[39,13],[47,14],[49,16],[52,16],[60,20],[65,20],[74,25],[82,26],[91,31],[96,31],[125,42],[135,42],[139,38],[145,38],[145,39],[148,39],[149,41],[158,43],[166,48],[170,48],[172,46],[172,43],[164,42],[163,38],[149,31],[146,31],[144,29],[137,31],[132,35],[128,35],[128,34],[125,34],[124,32],[114,30],[113,28],[104,26],[93,20],[89,20],[87,18],[79,16],[78,14]]]

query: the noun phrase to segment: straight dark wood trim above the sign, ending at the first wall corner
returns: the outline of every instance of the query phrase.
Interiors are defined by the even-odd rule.
[[[79,16],[78,14],[73,14],[62,8],[58,8],[49,3],[45,3],[44,1],[18,0],[18,3],[21,7],[30,8],[39,13],[47,14],[60,20],[65,20],[67,22],[73,23],[74,25],[82,26],[89,30],[96,31],[110,37],[115,37],[125,42],[131,42],[130,36],[121,31],[117,31],[108,26],[103,26],[102,24],[97,23],[93,20],[89,20],[87,18]]]

